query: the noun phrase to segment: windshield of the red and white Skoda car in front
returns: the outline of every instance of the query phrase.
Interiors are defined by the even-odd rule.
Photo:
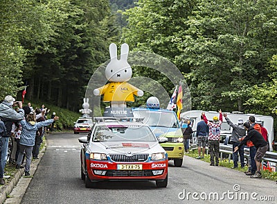
[[[148,126],[98,126],[93,133],[93,142],[156,142]]]

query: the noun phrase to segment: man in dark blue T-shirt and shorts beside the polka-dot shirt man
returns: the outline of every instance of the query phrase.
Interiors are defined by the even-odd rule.
[[[208,143],[208,126],[203,119],[203,115],[200,116],[201,121],[198,122],[196,127],[196,137],[197,137],[197,146],[198,146],[198,158],[202,159],[205,155],[205,147]],[[201,148],[202,148],[202,156],[201,156]]]

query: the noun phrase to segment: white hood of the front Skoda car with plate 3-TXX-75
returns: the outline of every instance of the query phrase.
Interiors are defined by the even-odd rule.
[[[93,142],[93,153],[166,153],[158,142]]]

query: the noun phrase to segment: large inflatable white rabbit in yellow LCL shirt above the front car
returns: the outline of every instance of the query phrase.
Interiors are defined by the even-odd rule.
[[[128,44],[121,45],[120,60],[117,59],[116,44],[109,45],[111,61],[105,69],[105,75],[110,83],[93,90],[96,96],[103,96],[103,102],[111,102],[111,107],[126,107],[126,102],[134,102],[134,95],[143,96],[143,91],[127,83],[132,77],[132,68],[127,62]]]

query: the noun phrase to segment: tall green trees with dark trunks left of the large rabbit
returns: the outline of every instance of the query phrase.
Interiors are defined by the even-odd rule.
[[[20,95],[78,111],[93,70],[118,40],[109,1],[0,2],[3,99]]]

